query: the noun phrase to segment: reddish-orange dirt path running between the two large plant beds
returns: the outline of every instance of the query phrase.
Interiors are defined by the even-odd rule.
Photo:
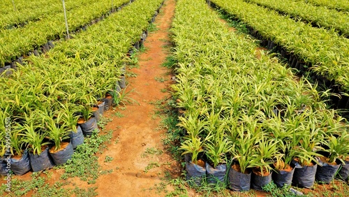
[[[164,196],[151,188],[162,182],[169,168],[178,166],[171,156],[160,154],[165,152],[161,142],[161,134],[165,131],[157,129],[161,119],[155,115],[153,104],[170,95],[164,89],[171,83],[171,71],[161,65],[170,50],[169,29],[174,7],[174,0],[165,1],[155,21],[158,30],[149,34],[144,42],[145,52],[138,56],[140,67],[128,69],[137,77],[127,79],[126,92],[133,89],[128,97],[139,105],[117,109],[118,117],[106,126],[107,130],[116,131],[112,143],[99,156],[98,162],[103,170],[112,169],[113,172],[98,178],[94,185],[98,187],[98,196]],[[115,111],[107,112],[108,117],[113,115]],[[104,162],[106,156],[112,157],[112,161]]]

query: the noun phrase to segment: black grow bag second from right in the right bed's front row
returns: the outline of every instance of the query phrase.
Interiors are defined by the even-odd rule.
[[[319,166],[316,169],[315,180],[321,183],[329,184],[334,179],[337,170],[339,169],[340,164],[330,165],[319,161]]]

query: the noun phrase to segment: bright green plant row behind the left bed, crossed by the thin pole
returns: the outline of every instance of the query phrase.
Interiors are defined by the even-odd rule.
[[[114,6],[119,7],[129,0],[116,0]],[[110,1],[103,0],[89,3],[68,11],[68,27],[70,31],[75,31],[91,20],[108,13],[112,8]],[[0,67],[11,62],[18,57],[28,54],[47,41],[66,36],[66,26],[64,15],[57,13],[50,17],[27,24],[24,28],[7,29],[0,33]]]

